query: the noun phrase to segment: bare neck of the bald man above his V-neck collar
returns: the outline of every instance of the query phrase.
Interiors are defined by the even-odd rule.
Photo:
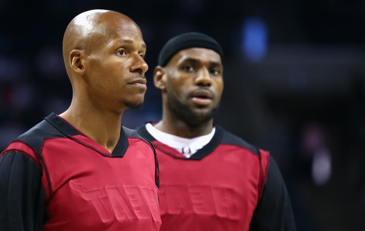
[[[70,107],[59,116],[112,153],[120,138],[122,114],[72,98]]]

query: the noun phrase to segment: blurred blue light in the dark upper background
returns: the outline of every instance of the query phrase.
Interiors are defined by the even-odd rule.
[[[243,53],[251,61],[261,61],[266,55],[267,29],[264,21],[258,18],[249,18],[242,28]]]

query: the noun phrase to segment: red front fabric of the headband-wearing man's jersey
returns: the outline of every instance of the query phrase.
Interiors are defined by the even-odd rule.
[[[249,230],[265,165],[257,154],[220,144],[201,160],[183,160],[161,151],[180,157],[176,150],[152,143],[160,166],[161,231]]]

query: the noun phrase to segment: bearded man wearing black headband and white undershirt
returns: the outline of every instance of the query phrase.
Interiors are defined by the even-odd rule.
[[[185,33],[158,57],[154,84],[162,120],[138,133],[160,163],[161,231],[294,231],[291,202],[269,152],[214,124],[223,91],[223,51]]]

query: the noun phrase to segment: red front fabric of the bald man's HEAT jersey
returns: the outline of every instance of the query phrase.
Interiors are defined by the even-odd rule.
[[[46,139],[41,156],[20,142],[7,149],[27,153],[43,171],[48,203],[43,231],[158,231],[161,218],[150,145],[128,138],[124,157],[113,158],[101,155],[98,151],[107,150],[90,138],[72,139]]]

